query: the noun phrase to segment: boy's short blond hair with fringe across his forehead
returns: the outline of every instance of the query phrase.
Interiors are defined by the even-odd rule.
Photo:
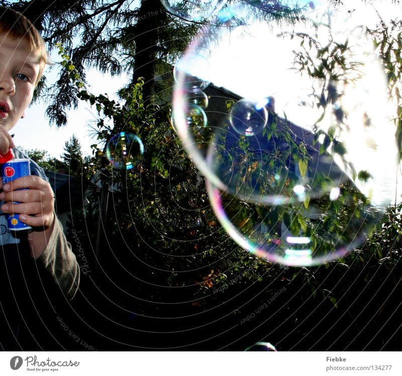
[[[38,84],[45,70],[46,64],[51,64],[45,41],[39,31],[24,15],[10,8],[0,6],[0,33],[13,38],[21,38],[28,43],[31,52],[38,55],[40,68],[35,86]]]

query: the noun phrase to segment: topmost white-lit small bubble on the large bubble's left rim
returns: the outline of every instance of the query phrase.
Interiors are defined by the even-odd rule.
[[[173,68],[173,77],[176,83],[187,92],[204,90],[210,82],[211,66],[208,60],[197,54],[186,55],[179,59]]]

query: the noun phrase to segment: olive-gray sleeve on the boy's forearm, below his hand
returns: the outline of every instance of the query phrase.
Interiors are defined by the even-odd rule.
[[[78,290],[80,269],[57,217],[48,244],[35,261],[43,265],[63,294],[71,300]]]

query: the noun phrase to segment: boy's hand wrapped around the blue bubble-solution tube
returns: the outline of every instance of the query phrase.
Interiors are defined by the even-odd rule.
[[[29,188],[29,189],[24,189]],[[15,179],[3,186],[0,179],[1,209],[7,214],[21,214],[20,220],[32,227],[48,228],[54,221],[54,196],[50,184],[38,176]],[[21,190],[18,190],[21,189]],[[13,204],[13,202],[21,202]]]

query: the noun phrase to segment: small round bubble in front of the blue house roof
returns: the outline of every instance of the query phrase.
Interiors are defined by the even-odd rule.
[[[240,99],[230,111],[230,123],[233,129],[243,136],[254,136],[262,132],[268,121],[265,104]]]

